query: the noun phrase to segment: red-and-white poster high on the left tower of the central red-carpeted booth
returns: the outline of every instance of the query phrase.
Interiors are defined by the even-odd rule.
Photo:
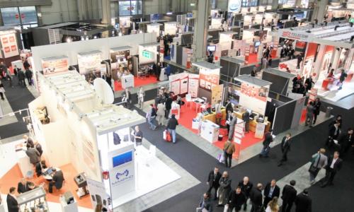
[[[199,69],[200,88],[212,90],[214,86],[219,85],[220,69]]]

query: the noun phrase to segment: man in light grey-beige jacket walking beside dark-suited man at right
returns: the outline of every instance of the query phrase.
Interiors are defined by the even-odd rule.
[[[328,163],[328,158],[324,155],[324,153],[326,153],[326,150],[324,148],[320,148],[316,154],[312,155],[312,161],[309,167],[309,180],[311,184],[314,184],[315,179],[319,174],[319,170],[326,167]]]

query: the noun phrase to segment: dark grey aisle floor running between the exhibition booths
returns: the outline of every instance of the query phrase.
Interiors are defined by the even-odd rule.
[[[15,109],[18,110],[27,107],[28,102],[33,100],[33,95],[31,95],[26,88],[20,89],[16,86],[15,88],[8,88],[7,83],[4,83],[4,86],[6,89],[6,97],[8,98],[8,102],[13,111]],[[153,100],[156,96],[156,89],[146,90],[146,93],[147,95],[145,99]],[[133,98],[133,100],[135,100],[135,98]],[[353,110],[343,110],[343,108],[336,107],[336,105],[330,105],[326,102],[324,102],[323,105],[324,107],[333,107],[333,115],[343,114],[343,129],[346,129],[353,124],[351,121],[354,119]],[[16,135],[21,138],[22,134],[26,131],[25,125],[22,122],[22,117],[23,114],[21,116],[18,115],[17,123],[0,126],[0,136],[2,138],[7,138],[2,141],[16,141],[16,139],[12,139],[13,136]],[[324,146],[324,141],[326,141],[327,137],[328,124],[328,122],[324,122],[312,129],[307,129],[307,131],[295,135],[293,137],[291,151],[288,154],[289,160],[282,167],[277,166],[278,160],[280,160],[281,157],[281,152],[280,146],[276,145],[270,151],[270,158],[260,159],[256,155],[247,158],[243,163],[235,165],[232,169],[227,169],[224,165],[219,164],[215,159],[215,156],[206,153],[206,151],[208,151],[206,148],[200,148],[198,146],[200,138],[188,129],[185,129],[184,126],[178,126],[178,142],[172,144],[163,141],[163,127],[160,127],[156,131],[152,131],[146,123],[141,124],[140,126],[144,132],[144,138],[154,144],[157,147],[157,151],[165,155],[164,157],[167,157],[167,159],[165,158],[166,160],[171,160],[170,163],[174,163],[174,165],[169,165],[169,167],[175,167],[177,165],[184,172],[184,175],[188,176],[184,177],[180,172],[177,172],[178,175],[182,176],[181,179],[184,178],[187,180],[181,181],[181,179],[178,179],[175,182],[172,182],[170,189],[165,189],[162,192],[161,189],[158,189],[152,192],[154,194],[152,196],[142,196],[141,198],[145,198],[145,200],[143,200],[144,204],[147,204],[148,206],[148,208],[143,211],[195,211],[195,207],[199,204],[202,194],[207,190],[207,184],[205,184],[207,173],[210,172],[213,167],[218,166],[221,171],[229,171],[230,176],[232,177],[232,187],[234,187],[245,175],[250,177],[253,184],[256,184],[257,182],[266,183],[269,182],[270,179],[278,179],[278,183],[283,184],[284,182],[288,182],[289,179],[295,179],[299,184],[299,189],[304,186],[309,187],[309,195],[312,198],[312,211],[350,212],[352,211],[353,205],[350,198],[338,198],[336,201],[333,201],[333,196],[353,196],[354,155],[348,154],[346,155],[346,158],[344,158],[343,168],[336,175],[333,187],[321,188],[319,187],[319,184],[309,185],[307,182],[307,165],[311,155],[316,153],[320,147]],[[188,132],[190,132],[190,134],[188,134]],[[210,148],[215,149],[215,146],[211,145]],[[162,160],[164,163],[165,159]],[[6,164],[8,164],[8,162],[6,162]],[[176,170],[174,171],[176,172]],[[190,184],[190,182],[193,183]],[[188,187],[180,189],[180,187],[185,185],[188,185]],[[3,186],[3,184],[1,184],[1,186]],[[13,184],[13,186],[16,186],[16,184]],[[170,185],[166,187],[169,186]],[[1,193],[7,194],[7,191],[1,189]],[[146,199],[147,196],[149,196],[149,199]],[[138,206],[140,202],[131,201],[128,204],[135,204],[135,206]],[[213,202],[213,204],[216,203]],[[251,207],[248,207],[248,211],[250,208]],[[217,212],[223,211],[223,208],[215,207],[214,209],[214,211]],[[295,207],[293,207],[293,211],[295,211]]]

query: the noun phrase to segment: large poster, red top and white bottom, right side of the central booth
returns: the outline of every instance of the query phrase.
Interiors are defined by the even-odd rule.
[[[260,87],[253,84],[241,83],[241,91],[239,93],[239,104],[249,110],[265,113],[267,105],[269,88]]]

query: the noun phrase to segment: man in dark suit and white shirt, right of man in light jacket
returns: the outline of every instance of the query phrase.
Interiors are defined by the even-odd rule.
[[[333,185],[333,178],[336,173],[341,170],[341,167],[342,159],[339,158],[339,153],[335,151],[333,157],[329,157],[329,162],[326,166],[326,177],[324,177],[324,181],[321,184],[321,187],[326,187],[326,185]]]

